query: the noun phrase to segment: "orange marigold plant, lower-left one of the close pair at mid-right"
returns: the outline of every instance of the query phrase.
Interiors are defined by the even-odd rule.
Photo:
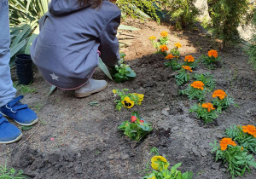
[[[196,117],[202,119],[205,124],[211,123],[214,118],[218,118],[218,114],[211,103],[195,104],[190,107],[189,113],[196,113]]]

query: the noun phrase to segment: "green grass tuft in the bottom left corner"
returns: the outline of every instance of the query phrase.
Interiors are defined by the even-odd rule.
[[[8,169],[6,164],[0,165],[0,178],[1,179],[26,179],[26,176],[23,176],[23,171],[16,171],[14,168]]]

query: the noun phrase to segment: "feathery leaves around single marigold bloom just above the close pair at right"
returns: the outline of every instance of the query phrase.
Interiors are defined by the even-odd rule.
[[[215,88],[216,82],[214,80],[213,75],[210,75],[209,72],[198,74],[195,73],[193,75],[195,81],[201,81],[207,87],[207,91],[210,92]]]

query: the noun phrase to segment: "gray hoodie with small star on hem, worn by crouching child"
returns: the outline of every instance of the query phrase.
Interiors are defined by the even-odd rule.
[[[49,12],[39,20],[40,32],[32,43],[32,61],[49,84],[79,88],[93,74],[99,60],[107,66],[119,61],[116,38],[120,10],[109,1],[96,9],[77,0],[51,0]]]

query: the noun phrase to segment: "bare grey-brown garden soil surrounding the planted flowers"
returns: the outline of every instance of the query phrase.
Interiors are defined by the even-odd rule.
[[[22,102],[38,114],[40,122],[31,130],[23,130],[20,141],[0,146],[1,164],[7,161],[9,167],[37,179],[137,179],[152,170],[150,165],[147,167],[153,157],[150,149],[157,147],[171,165],[182,163],[179,170],[193,171],[193,178],[230,178],[227,166],[214,161],[209,143],[221,140],[230,125],[256,124],[256,73],[247,64],[248,56],[240,46],[220,49],[219,41],[200,26],[193,31],[175,31],[168,24],[158,25],[154,21],[127,19],[123,24],[140,29],[119,35],[120,42],[125,43],[120,51],[126,54],[125,61],[137,78],[117,84],[96,69],[93,78],[107,80],[108,88],[78,99],[74,91],[55,90],[48,95],[50,85],[35,66],[34,83],[30,86],[35,91],[27,93]],[[185,55],[199,59],[208,50],[217,49],[222,58],[217,69],[209,70],[200,64],[193,72],[212,74],[216,80],[214,90],[228,92],[239,107],[231,105],[211,124],[204,124],[195,113],[189,113],[196,101],[189,101],[178,91],[190,82],[177,86],[172,68],[164,66],[165,56],[154,54],[148,40],[150,36],[159,38],[162,31],[169,32],[169,49],[174,48],[174,43],[182,43],[180,62]],[[118,98],[113,89],[144,94],[144,101],[141,106],[122,108],[119,112],[115,109],[114,101]],[[207,95],[209,101],[211,95],[212,92]],[[131,119],[132,111],[140,113],[154,127],[140,142],[130,141],[118,130],[123,121]],[[256,170],[252,169],[243,178],[255,176]]]

